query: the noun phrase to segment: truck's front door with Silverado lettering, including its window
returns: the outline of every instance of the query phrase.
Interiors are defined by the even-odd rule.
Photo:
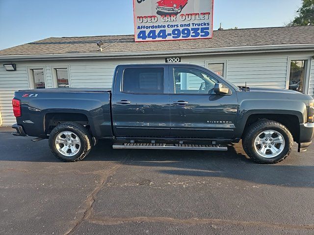
[[[169,66],[170,136],[174,138],[232,139],[237,97],[221,77],[193,66]],[[224,83],[229,94],[215,94],[215,83]]]

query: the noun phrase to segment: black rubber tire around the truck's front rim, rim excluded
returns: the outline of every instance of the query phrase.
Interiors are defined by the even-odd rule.
[[[254,141],[256,137],[263,131],[267,130],[274,130],[279,132],[284,140],[285,140],[285,146],[282,150],[282,152],[271,158],[263,157],[258,152],[255,150],[254,146]],[[246,131],[243,134],[242,137],[242,146],[245,151],[245,153],[255,162],[261,163],[261,164],[276,164],[288,157],[292,150],[292,144],[293,144],[293,137],[288,130],[286,126],[283,124],[277,122],[277,121],[272,121],[272,120],[267,120],[267,119],[262,119],[259,120],[246,129]]]

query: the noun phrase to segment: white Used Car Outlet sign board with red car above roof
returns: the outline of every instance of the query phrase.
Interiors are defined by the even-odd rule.
[[[213,0],[133,0],[133,8],[135,42],[212,38]]]

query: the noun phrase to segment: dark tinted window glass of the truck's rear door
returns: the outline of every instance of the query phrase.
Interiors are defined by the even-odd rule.
[[[125,69],[122,92],[134,94],[163,94],[163,68]]]

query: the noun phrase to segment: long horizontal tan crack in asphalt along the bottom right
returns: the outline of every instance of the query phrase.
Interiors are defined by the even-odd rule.
[[[299,225],[299,224],[280,224],[280,223],[267,223],[259,221],[241,221],[241,220],[228,220],[228,219],[210,219],[210,218],[191,218],[191,219],[176,219],[170,217],[131,217],[131,218],[110,218],[95,216],[91,213],[88,222],[100,225],[117,225],[124,223],[138,223],[138,222],[159,222],[159,223],[172,223],[172,224],[216,224],[216,225],[240,225],[249,227],[268,227],[279,229],[297,229],[297,230],[314,230],[314,224]]]

